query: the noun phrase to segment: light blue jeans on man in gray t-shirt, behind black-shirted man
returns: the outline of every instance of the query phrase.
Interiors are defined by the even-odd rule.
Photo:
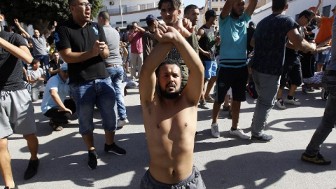
[[[106,69],[107,69],[107,72],[109,72],[111,76],[113,87],[114,87],[114,90],[116,91],[118,116],[120,120],[125,120],[127,118],[127,115],[126,115],[124,97],[121,92],[121,82],[123,80],[123,75],[124,75],[123,66],[107,67]]]

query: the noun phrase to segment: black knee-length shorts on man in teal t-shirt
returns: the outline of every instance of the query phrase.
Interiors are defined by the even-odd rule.
[[[216,102],[222,104],[225,95],[232,88],[232,98],[235,101],[244,102],[246,100],[246,84],[248,79],[248,69],[246,63],[239,68],[223,67],[221,64],[217,69],[216,80]]]

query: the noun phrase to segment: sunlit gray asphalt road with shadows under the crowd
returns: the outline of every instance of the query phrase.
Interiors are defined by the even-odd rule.
[[[287,93],[285,90],[284,95]],[[228,132],[231,120],[224,111],[219,118],[221,137],[214,139],[209,130],[212,111],[200,109],[194,163],[207,188],[336,188],[335,133],[332,132],[321,147],[321,153],[333,161],[331,165],[319,167],[300,160],[323,116],[325,101],[319,95],[319,91],[301,94],[299,88],[296,97],[302,106],[287,105],[286,110],[274,107],[265,130],[274,139],[267,144],[231,136]],[[96,110],[94,144],[99,167],[91,170],[87,167],[85,145],[78,134],[78,120],[66,125],[62,132],[52,132],[48,118],[41,114],[41,100],[35,102],[41,164],[32,179],[23,179],[29,158],[25,140],[17,134],[9,138],[13,174],[20,188],[137,188],[149,162],[137,89],[129,90],[125,104],[131,125],[117,131],[116,143],[126,149],[127,155],[104,152],[104,130]],[[239,125],[251,134],[249,127],[255,101],[247,95],[241,105]],[[0,182],[3,186],[2,179]]]

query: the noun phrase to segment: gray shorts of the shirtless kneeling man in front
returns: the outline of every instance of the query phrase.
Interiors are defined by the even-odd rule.
[[[151,176],[151,173],[147,170],[144,177],[141,179],[140,184],[141,189],[167,189],[167,188],[174,188],[174,189],[203,189],[206,188],[204,182],[201,177],[200,171],[193,166],[193,173],[184,181],[181,181],[177,184],[165,184],[160,183],[159,181],[155,181]]]

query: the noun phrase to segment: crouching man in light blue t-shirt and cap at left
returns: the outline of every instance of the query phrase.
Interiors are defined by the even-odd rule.
[[[68,64],[59,67],[59,73],[48,80],[45,85],[41,111],[44,116],[51,118],[49,125],[54,131],[61,131],[61,124],[70,123],[72,113],[76,112],[76,105],[72,99],[66,99],[70,94]]]

